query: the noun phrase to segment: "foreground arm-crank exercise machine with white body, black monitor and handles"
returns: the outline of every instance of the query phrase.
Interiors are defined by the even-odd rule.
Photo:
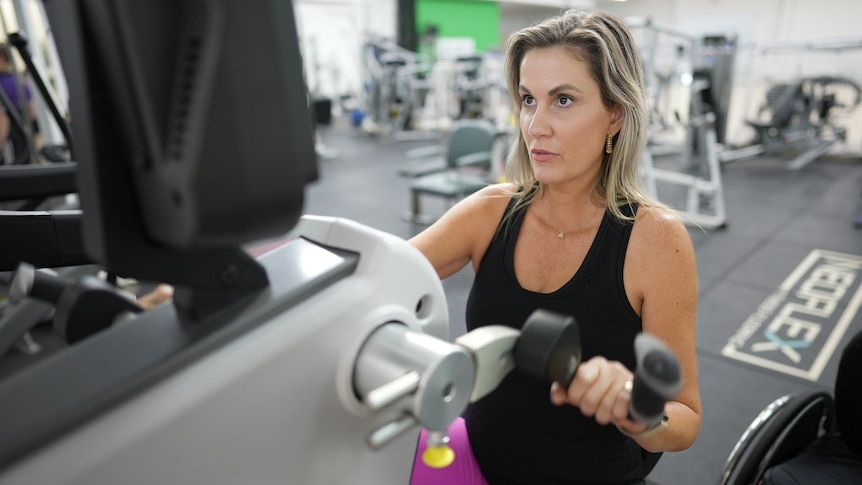
[[[92,278],[18,267],[2,341],[53,313],[65,346],[0,378],[0,483],[405,483],[419,426],[445,466],[446,426],[507,372],[570,381],[571,317],[449,343],[442,283],[416,248],[301,215],[317,167],[290,2],[46,7],[84,248],[175,293],[141,311]],[[249,84],[265,105],[232,89]],[[242,194],[230,207],[226,183]],[[258,258],[242,248],[284,236]],[[659,341],[635,346],[632,415],[650,421],[681,375]]]

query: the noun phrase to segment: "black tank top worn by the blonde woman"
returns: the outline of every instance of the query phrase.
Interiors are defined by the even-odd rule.
[[[629,206],[623,209],[632,214]],[[515,242],[525,211],[514,214],[509,227],[501,227],[488,246],[467,301],[467,330],[483,325],[520,329],[533,310],[544,308],[575,317],[584,360],[602,355],[634,369],[634,338],[642,325],[623,287],[632,223],[605,212],[571,280],[553,293],[535,293],[523,289],[515,277]],[[643,479],[637,443],[575,407],[552,405],[549,393],[548,384],[513,371],[467,408],[470,444],[489,483],[614,484]]]

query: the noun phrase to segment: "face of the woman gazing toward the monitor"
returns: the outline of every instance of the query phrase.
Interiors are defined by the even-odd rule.
[[[544,184],[598,176],[608,134],[622,111],[602,104],[587,63],[564,47],[532,49],[521,61],[520,128],[536,179]]]

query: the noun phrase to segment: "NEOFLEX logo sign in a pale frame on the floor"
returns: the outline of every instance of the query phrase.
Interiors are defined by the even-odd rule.
[[[722,355],[816,381],[862,306],[862,256],[815,249]]]

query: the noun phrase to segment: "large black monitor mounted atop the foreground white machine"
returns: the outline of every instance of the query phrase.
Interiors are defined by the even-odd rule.
[[[292,2],[44,3],[88,255],[191,313],[266,286],[241,245],[289,232],[317,178]]]

